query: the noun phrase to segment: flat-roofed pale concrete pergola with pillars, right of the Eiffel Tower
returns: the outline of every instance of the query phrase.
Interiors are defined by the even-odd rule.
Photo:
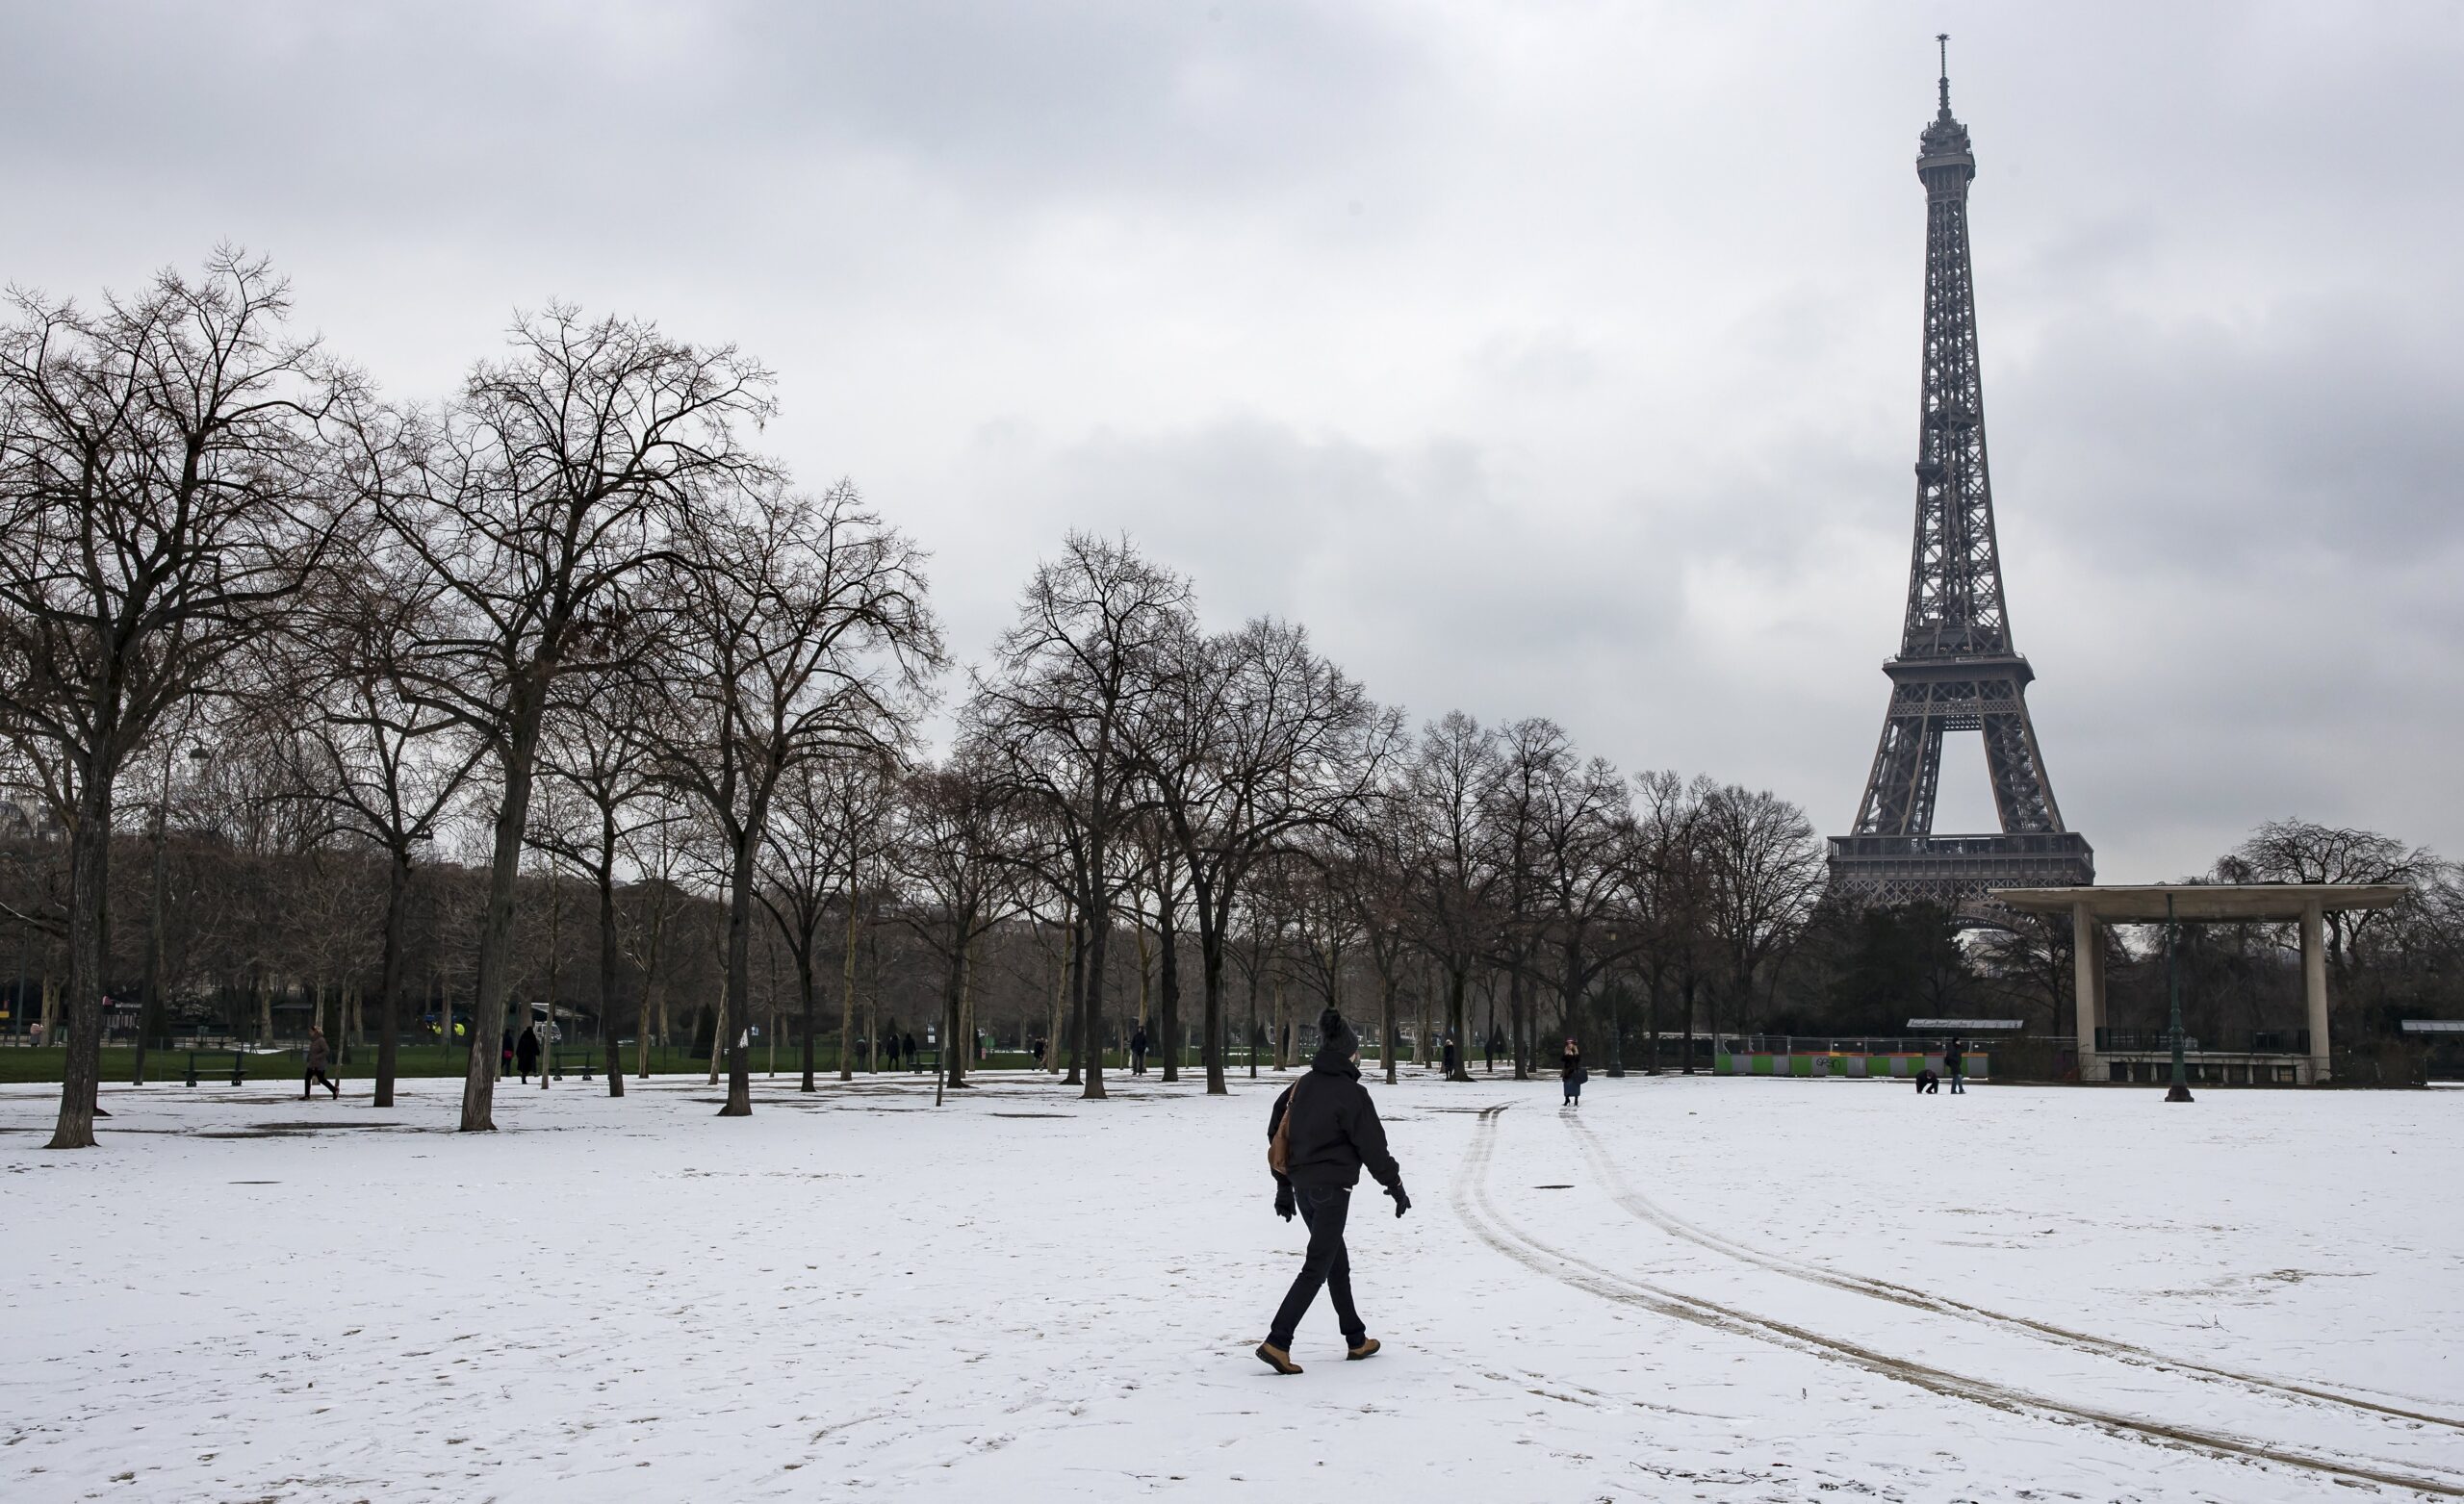
[[[2397,884],[2141,884],[2092,889],[1993,889],[2023,913],[2070,916],[2072,977],[2080,997],[2080,1081],[2109,1081],[2097,1051],[2104,1024],[2104,926],[2163,923],[2299,923],[2301,997],[2309,1004],[2309,1083],[2328,1078],[2326,1044],[2326,916],[2346,908],[2390,908],[2412,889]]]

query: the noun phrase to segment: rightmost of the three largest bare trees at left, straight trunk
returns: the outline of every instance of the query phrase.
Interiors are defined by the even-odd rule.
[[[853,485],[821,500],[705,507],[673,571],[673,667],[658,674],[660,775],[727,847],[727,1105],[752,1113],[754,876],[779,783],[798,763],[894,756],[941,635],[919,554]]]

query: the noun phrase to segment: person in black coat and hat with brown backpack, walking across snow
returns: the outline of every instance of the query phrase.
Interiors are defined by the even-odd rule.
[[[1266,1115],[1274,1209],[1284,1221],[1299,1211],[1308,1228],[1301,1273],[1294,1275],[1284,1305],[1274,1312],[1274,1327],[1257,1349],[1259,1361],[1276,1374],[1301,1371],[1291,1361],[1291,1334],[1321,1285],[1335,1302],[1335,1322],[1343,1324],[1343,1356],[1365,1359],[1377,1351],[1377,1339],[1353,1307],[1353,1260],[1343,1250],[1343,1221],[1353,1209],[1360,1167],[1365,1164],[1387,1196],[1395,1196],[1395,1216],[1412,1211],[1412,1196],[1402,1191],[1402,1169],[1385,1147],[1377,1103],[1360,1086],[1360,1039],[1335,1009],[1318,1017],[1318,1039],[1323,1044],[1308,1073],[1284,1088]]]

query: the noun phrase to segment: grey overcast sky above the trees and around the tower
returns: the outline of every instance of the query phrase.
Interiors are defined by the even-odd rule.
[[[978,655],[1069,527],[1414,719],[1838,834],[1915,505],[1937,30],[1993,492],[2104,881],[2464,854],[2464,7],[0,0],[0,278],[222,239],[387,391],[739,342]],[[1937,830],[1988,830],[1974,736]]]

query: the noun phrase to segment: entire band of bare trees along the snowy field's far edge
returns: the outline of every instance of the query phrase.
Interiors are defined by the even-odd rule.
[[[991,1034],[1099,1098],[1129,1029],[1225,1090],[1321,1004],[1390,1078],[1446,1039],[1459,1078],[1555,1039],[1695,1068],[1698,1034],[1917,999],[2062,1026],[2067,935],[1833,901],[1796,805],[1547,719],[1412,726],[1296,623],[1207,628],[1129,539],[1067,537],[954,667],[917,544],[798,487],[774,414],[749,354],[564,305],[394,401],[232,251],[15,295],[0,918],[12,1012],[67,1051],[57,1147],[94,1142],[106,997],[140,1078],[175,1029],[313,1017],[389,1103],[404,1039],[461,1039],[463,1130],[500,1034],[567,1014],[614,1095],[653,1041],[707,1049],[727,1115],[756,1051],[811,1090],[890,1031],[966,1041],[949,1088]],[[2338,921],[2353,1007],[2452,1002],[2452,866],[2284,825],[2220,874],[2311,866],[2420,891]],[[2218,1009],[2284,970],[2264,926],[2198,945]]]

